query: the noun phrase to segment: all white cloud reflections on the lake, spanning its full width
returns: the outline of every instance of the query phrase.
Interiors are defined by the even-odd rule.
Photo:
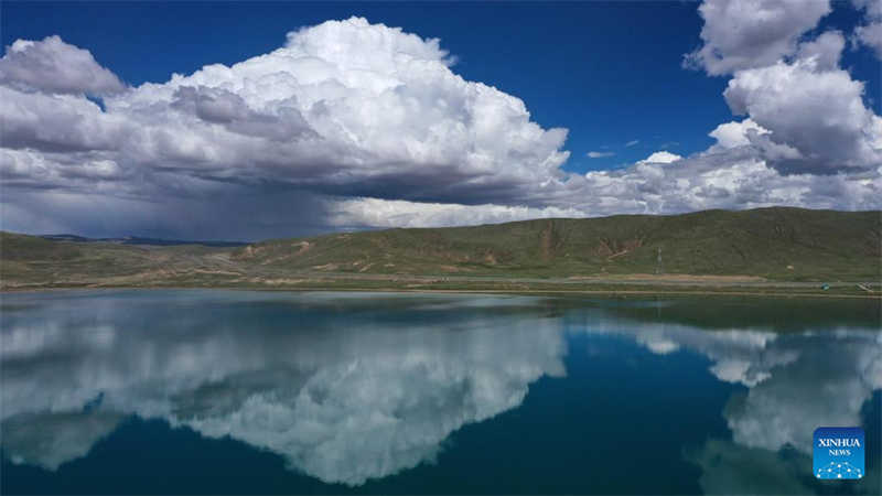
[[[521,296],[101,294],[3,308],[2,443],[13,462],[56,470],[138,414],[359,485],[433,461],[452,432],[566,375],[568,333],[706,356],[718,379],[745,387],[722,412],[745,453],[808,453],[817,425],[860,424],[882,388],[880,333],[861,325],[702,330],[660,311],[647,320]],[[721,442],[692,454],[704,482],[728,477],[702,463],[719,461]]]

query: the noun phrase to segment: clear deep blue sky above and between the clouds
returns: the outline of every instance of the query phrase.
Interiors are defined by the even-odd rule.
[[[700,44],[698,2],[17,3],[4,2],[3,45],[51,34],[89,50],[125,82],[161,83],[205,64],[234,64],[277,48],[284,34],[329,19],[365,17],[439,37],[470,80],[524,99],[544,127],[570,130],[566,170],[612,169],[657,150],[686,155],[731,118],[727,79],[680,66]],[[854,24],[845,4],[825,26]],[[879,94],[868,50],[846,65]],[[879,108],[879,103],[875,103]],[[639,143],[626,147],[634,140]],[[588,159],[599,151],[615,155]]]

